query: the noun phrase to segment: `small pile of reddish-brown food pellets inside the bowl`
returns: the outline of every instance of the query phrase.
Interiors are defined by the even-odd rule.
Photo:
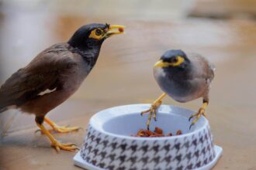
[[[181,130],[176,131],[176,135],[180,135],[180,134],[182,134]],[[131,135],[131,136],[154,138],[154,137],[172,136],[172,134],[168,133],[164,135],[163,130],[161,128],[156,127],[154,128],[154,131],[140,129],[136,135]]]

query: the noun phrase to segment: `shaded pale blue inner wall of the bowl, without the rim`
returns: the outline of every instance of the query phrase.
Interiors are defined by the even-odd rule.
[[[112,134],[131,135],[137,134],[140,129],[147,129],[148,114],[144,117],[140,113],[130,113],[118,117],[113,117],[103,125],[103,129]],[[177,114],[157,114],[157,121],[153,119],[150,122],[150,131],[154,128],[161,128],[164,134],[176,134],[176,131],[181,130],[182,134],[189,132],[189,121],[186,117]]]

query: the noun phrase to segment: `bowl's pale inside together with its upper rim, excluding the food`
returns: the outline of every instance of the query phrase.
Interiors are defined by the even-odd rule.
[[[102,110],[92,117],[90,125],[102,133],[130,137],[137,134],[140,129],[147,129],[148,114],[140,116],[140,111],[147,110],[149,107],[150,104],[133,104]],[[206,118],[200,117],[199,121],[189,130],[191,124],[189,116],[192,113],[194,113],[192,110],[161,105],[157,110],[157,121],[154,121],[152,116],[150,131],[154,131],[157,127],[161,128],[164,134],[174,135],[178,130],[181,130],[182,134],[188,134],[207,124]]]

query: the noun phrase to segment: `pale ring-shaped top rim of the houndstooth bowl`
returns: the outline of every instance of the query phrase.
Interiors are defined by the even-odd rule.
[[[136,141],[164,141],[164,140],[173,140],[173,139],[176,139],[176,138],[185,138],[185,137],[189,137],[191,136],[192,134],[197,134],[199,133],[199,131],[203,131],[207,125],[209,125],[209,121],[206,119],[206,117],[200,117],[199,118],[199,121],[201,121],[202,123],[202,126],[199,127],[198,124],[195,124],[194,126],[196,127],[196,129],[194,131],[190,131],[188,133],[185,133],[185,134],[180,134],[180,135],[175,135],[175,136],[168,136],[168,137],[161,137],[161,138],[157,138],[157,137],[153,137],[153,138],[147,138],[147,137],[133,137],[133,136],[128,136],[128,135],[123,135],[123,134],[114,134],[114,133],[111,133],[109,131],[105,131],[103,128],[99,128],[97,126],[93,126],[92,124],[95,124],[95,119],[97,119],[97,117],[100,116],[100,114],[106,112],[107,110],[113,110],[113,109],[120,109],[120,108],[124,108],[124,107],[150,107],[151,104],[126,104],[126,105],[119,105],[119,106],[115,106],[115,107],[109,107],[109,108],[106,108],[104,110],[100,110],[99,112],[97,112],[96,114],[94,114],[90,121],[89,121],[89,126],[91,126],[93,129],[95,129],[95,131],[99,131],[100,133],[102,134],[106,134],[110,137],[113,137],[113,138],[122,138],[122,139],[126,139],[126,140],[136,140]],[[164,108],[167,108],[167,107],[171,107],[171,108],[175,108],[176,110],[181,110],[181,111],[184,111],[186,114],[191,114],[191,113],[195,113],[195,111],[193,110],[189,110],[189,109],[186,109],[186,108],[183,108],[183,107],[176,107],[176,106],[173,106],[173,105],[168,105],[168,104],[161,104],[161,106],[159,107],[159,109],[164,109]],[[138,112],[139,114],[139,112]],[[166,113],[164,112],[164,114],[175,114],[175,113]],[[123,114],[124,115],[124,114]],[[119,116],[122,116],[122,115],[119,115]],[[179,116],[182,116],[182,115],[179,115]],[[182,116],[184,117],[184,116]],[[185,117],[185,118],[188,118],[188,121],[189,121],[189,117]],[[198,122],[199,122],[198,121]]]

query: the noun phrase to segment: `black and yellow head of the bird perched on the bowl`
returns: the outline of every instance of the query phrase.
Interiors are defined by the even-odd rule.
[[[189,59],[181,49],[171,49],[161,56],[161,59],[154,64],[154,67],[161,68],[185,68],[189,63]]]

